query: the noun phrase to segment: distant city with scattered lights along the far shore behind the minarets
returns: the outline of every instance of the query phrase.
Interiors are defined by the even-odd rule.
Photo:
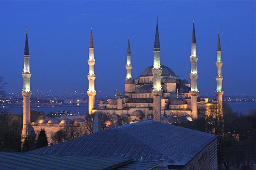
[[[115,93],[109,92],[97,92],[95,96],[95,103],[98,104],[100,100],[107,101],[108,98],[115,98]],[[216,96],[200,96],[200,98],[209,98],[213,100]],[[223,96],[224,101],[228,102],[256,102],[256,96],[246,95],[234,95],[234,96]],[[6,97],[1,98],[1,105],[3,106],[22,106],[23,97],[21,94],[8,93]],[[87,104],[88,96],[86,92],[54,92],[40,91],[32,93],[31,105],[32,106],[57,106],[62,104]]]

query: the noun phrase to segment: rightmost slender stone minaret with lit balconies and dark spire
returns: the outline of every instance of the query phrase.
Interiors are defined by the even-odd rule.
[[[217,43],[217,61],[216,61],[216,66],[217,66],[217,74],[215,76],[216,82],[217,82],[217,87],[216,87],[216,96],[219,104],[219,112],[222,114],[222,96],[224,94],[224,91],[222,90],[222,64],[223,62],[221,61],[221,48],[220,48],[220,31],[218,29],[218,43]]]

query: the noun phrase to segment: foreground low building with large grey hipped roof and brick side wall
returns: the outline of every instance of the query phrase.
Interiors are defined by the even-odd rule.
[[[28,153],[163,161],[170,170],[216,170],[217,136],[147,120]]]

